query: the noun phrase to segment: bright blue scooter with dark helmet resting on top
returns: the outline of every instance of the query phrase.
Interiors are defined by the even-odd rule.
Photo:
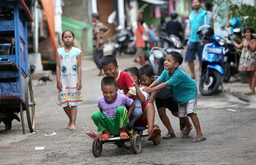
[[[224,80],[223,65],[227,61],[225,40],[214,34],[213,28],[206,24],[198,28],[197,34],[207,42],[202,53],[202,73],[199,90],[202,95],[214,94],[219,86],[224,92],[222,82]],[[226,51],[225,51],[226,50]]]

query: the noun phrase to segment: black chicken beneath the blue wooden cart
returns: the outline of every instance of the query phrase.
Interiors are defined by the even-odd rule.
[[[5,125],[4,131],[12,128],[12,120],[16,119],[20,122],[20,118],[13,112],[0,112],[0,123],[3,122]]]

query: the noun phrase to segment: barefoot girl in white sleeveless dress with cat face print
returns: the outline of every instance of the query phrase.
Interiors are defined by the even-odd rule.
[[[76,130],[77,106],[82,104],[81,50],[73,47],[74,34],[70,30],[62,33],[64,47],[57,49],[56,79],[58,89],[57,105],[63,107],[69,117],[70,130]]]

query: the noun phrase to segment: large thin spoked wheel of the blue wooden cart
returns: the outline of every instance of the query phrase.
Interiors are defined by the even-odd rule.
[[[26,83],[25,83],[25,105],[26,105],[26,114],[28,119],[28,128],[30,132],[33,132],[35,127],[35,105],[36,104],[34,101],[32,84],[29,77],[26,78]]]

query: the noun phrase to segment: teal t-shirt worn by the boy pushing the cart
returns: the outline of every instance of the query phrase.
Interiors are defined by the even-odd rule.
[[[170,85],[171,97],[181,105],[198,97],[198,87],[195,80],[179,68],[175,70],[171,77],[169,77],[169,70],[164,70],[157,81]]]

